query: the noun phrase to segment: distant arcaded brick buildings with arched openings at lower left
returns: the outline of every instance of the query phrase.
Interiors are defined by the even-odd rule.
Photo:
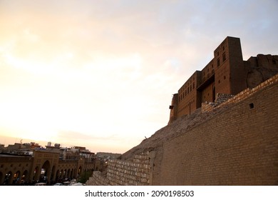
[[[95,169],[95,154],[85,147],[46,148],[38,144],[14,144],[0,154],[0,185],[61,182],[76,179],[83,171]],[[29,152],[29,154],[26,154]]]

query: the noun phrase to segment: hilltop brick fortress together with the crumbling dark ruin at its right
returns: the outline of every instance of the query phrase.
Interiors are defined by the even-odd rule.
[[[215,49],[213,59],[201,71],[195,71],[173,95],[168,124],[191,114],[205,101],[215,101],[217,94],[238,94],[277,73],[278,56],[258,54],[244,61],[240,39],[227,36]]]

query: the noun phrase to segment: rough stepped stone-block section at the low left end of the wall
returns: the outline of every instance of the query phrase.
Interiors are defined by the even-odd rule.
[[[107,171],[94,171],[87,185],[148,186],[153,179],[154,151],[135,154],[133,161],[110,160]]]

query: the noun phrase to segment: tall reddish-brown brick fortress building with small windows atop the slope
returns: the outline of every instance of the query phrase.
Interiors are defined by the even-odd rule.
[[[195,71],[173,96],[170,121],[191,114],[202,102],[215,101],[217,93],[237,94],[247,86],[240,39],[227,36],[215,49],[214,58],[202,69]]]

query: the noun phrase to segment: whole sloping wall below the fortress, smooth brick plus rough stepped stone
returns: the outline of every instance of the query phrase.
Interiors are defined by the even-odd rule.
[[[278,76],[217,97],[108,162],[107,174],[95,172],[87,185],[277,185]],[[144,164],[144,175],[135,174]]]

